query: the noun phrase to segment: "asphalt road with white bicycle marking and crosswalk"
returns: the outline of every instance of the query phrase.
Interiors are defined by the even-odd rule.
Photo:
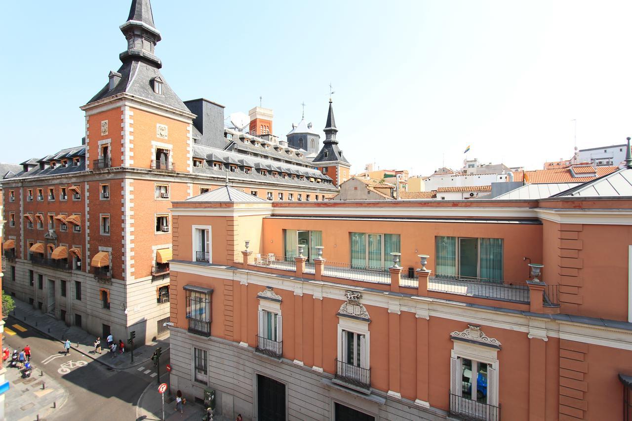
[[[64,355],[63,344],[59,341],[47,338],[28,326],[20,325],[26,331],[13,329],[13,324],[20,324],[20,320],[13,317],[6,320],[5,326],[16,334],[4,334],[3,347],[9,346],[13,350],[30,345],[31,361],[37,369],[34,374],[39,375],[39,370],[42,369],[44,379],[46,376],[54,377],[68,391],[68,401],[53,417],[47,419],[136,419],[136,405],[140,394],[150,382],[157,382],[157,376],[150,377],[155,371],[152,362],[127,370],[113,370],[76,350]],[[161,358],[161,377],[164,380],[167,378],[164,367],[168,362],[166,357]],[[130,358],[130,355],[119,355],[116,358]],[[140,367],[145,367],[145,370],[138,370]],[[11,404],[6,402],[7,410],[11,410]]]

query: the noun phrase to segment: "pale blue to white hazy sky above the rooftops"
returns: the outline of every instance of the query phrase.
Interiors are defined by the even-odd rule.
[[[0,162],[80,144],[79,107],[121,64],[118,27],[130,3],[3,5]],[[262,97],[284,138],[301,102],[305,119],[324,128],[331,83],[353,172],[375,162],[428,175],[466,157],[541,169],[571,157],[575,142],[584,149],[632,135],[629,1],[153,0],[152,8],[161,71],[183,101],[204,97],[228,116]]]

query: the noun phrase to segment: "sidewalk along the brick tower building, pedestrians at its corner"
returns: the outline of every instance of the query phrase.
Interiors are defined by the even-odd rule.
[[[150,360],[154,354],[157,346],[162,346],[162,354],[165,355],[169,351],[169,341],[157,340],[147,343],[146,345],[139,346],[134,349],[134,363],[131,363],[130,351],[126,350],[123,355],[119,355],[117,351],[116,358],[112,358],[107,351],[106,338],[101,338],[101,344],[105,348],[101,351],[101,354],[94,353],[94,340],[95,336],[91,333],[87,333],[83,329],[76,326],[66,326],[66,324],[58,319],[53,319],[51,316],[42,313],[40,310],[35,310],[27,303],[15,300],[15,310],[11,312],[11,315],[20,320],[21,323],[27,324],[33,329],[40,331],[41,333],[50,336],[51,338],[59,341],[59,350],[63,349],[63,343],[66,339],[70,339],[72,343],[72,349],[77,350],[88,358],[92,358],[112,369],[125,370],[130,367],[142,364]],[[114,338],[116,341],[123,338]],[[125,346],[127,346],[127,338],[123,339]]]

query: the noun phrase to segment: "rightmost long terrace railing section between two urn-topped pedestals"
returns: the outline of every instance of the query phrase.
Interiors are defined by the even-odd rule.
[[[529,302],[529,287],[524,282],[506,284],[494,279],[436,274],[428,278],[428,291],[518,303]]]

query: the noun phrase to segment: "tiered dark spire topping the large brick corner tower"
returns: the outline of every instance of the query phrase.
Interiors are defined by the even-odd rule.
[[[127,39],[127,51],[119,54],[123,63],[130,59],[140,59],[158,68],[162,67],[160,59],[154,52],[156,43],[161,40],[161,35],[155,28],[154,14],[149,0],[131,0],[130,15],[121,25],[121,32]]]

